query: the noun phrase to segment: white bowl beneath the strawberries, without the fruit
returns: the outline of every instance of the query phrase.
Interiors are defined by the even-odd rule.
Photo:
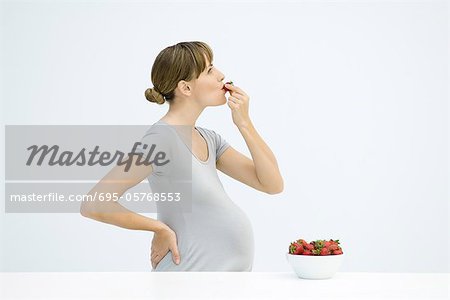
[[[298,277],[304,279],[328,279],[341,266],[344,254],[295,255],[286,253],[286,259]]]

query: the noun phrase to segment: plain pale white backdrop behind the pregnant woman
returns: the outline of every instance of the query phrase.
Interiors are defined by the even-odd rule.
[[[207,42],[285,180],[267,195],[220,173],[253,271],[289,271],[298,238],[339,239],[343,272],[450,271],[447,1],[10,1],[1,20],[2,125],[150,125],[156,55]],[[227,105],[197,125],[249,155]],[[2,271],[150,271],[151,232],[0,215]]]

